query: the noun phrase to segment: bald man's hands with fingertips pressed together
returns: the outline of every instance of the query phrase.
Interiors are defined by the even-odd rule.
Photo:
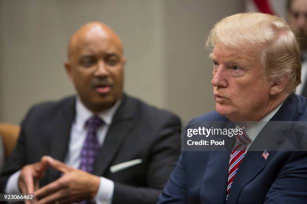
[[[39,188],[39,179],[51,166],[63,175],[57,180]],[[70,167],[65,163],[43,156],[40,162],[22,168],[18,185],[22,193],[34,193],[35,203],[72,203],[92,199],[98,190],[99,176]],[[29,200],[26,203],[30,203]]]

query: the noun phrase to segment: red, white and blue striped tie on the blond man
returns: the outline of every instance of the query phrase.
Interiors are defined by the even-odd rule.
[[[228,170],[228,185],[227,185],[227,195],[228,198],[230,188],[233,179],[238,171],[239,165],[246,154],[246,146],[251,142],[250,138],[243,132],[243,134],[237,135],[236,143],[232,149],[229,159],[229,170]]]

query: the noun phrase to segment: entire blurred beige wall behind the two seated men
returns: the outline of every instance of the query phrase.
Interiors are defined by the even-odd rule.
[[[206,35],[224,16],[257,10],[254,1],[0,0],[0,121],[20,123],[31,105],[75,93],[67,43],[97,20],[122,38],[126,93],[183,120],[214,110]],[[268,1],[286,17],[285,0]]]

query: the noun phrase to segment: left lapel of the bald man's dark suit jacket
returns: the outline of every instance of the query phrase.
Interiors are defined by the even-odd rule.
[[[68,150],[71,125],[76,114],[75,104],[76,98],[70,98],[69,101],[63,105],[63,109],[59,116],[55,118],[54,123],[51,124],[53,134],[50,139],[50,156],[63,162]],[[60,176],[60,172],[54,168],[49,168],[49,170],[50,181],[53,181]]]

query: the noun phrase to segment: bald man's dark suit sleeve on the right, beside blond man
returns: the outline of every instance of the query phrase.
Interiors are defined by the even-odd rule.
[[[160,121],[159,121],[160,120]],[[177,116],[157,118],[160,127],[152,142],[146,170],[146,187],[114,182],[112,203],[157,203],[180,154],[181,122]]]

